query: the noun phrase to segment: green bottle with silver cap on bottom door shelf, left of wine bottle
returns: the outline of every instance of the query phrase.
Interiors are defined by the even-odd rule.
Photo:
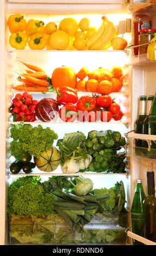
[[[135,180],[135,192],[131,208],[132,232],[144,237],[144,205],[145,199],[142,180]],[[142,245],[141,242],[134,240],[133,245]]]

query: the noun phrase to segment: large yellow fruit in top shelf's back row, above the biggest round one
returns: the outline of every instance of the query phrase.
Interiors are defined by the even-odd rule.
[[[65,31],[70,36],[74,36],[79,29],[79,24],[73,18],[65,18],[60,22],[59,29]]]

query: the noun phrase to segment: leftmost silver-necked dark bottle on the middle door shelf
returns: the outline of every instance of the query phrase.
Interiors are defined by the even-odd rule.
[[[146,118],[146,106],[147,104],[147,96],[143,95],[140,96],[139,100],[139,117],[135,123],[135,131],[137,133],[144,133],[144,125],[143,121]],[[135,139],[135,147],[142,147],[142,140],[141,139]]]

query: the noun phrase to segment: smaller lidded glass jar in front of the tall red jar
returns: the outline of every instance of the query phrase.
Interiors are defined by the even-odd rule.
[[[141,29],[139,31],[139,45],[148,44],[154,38],[156,29]],[[139,46],[139,54],[147,53],[148,45]]]

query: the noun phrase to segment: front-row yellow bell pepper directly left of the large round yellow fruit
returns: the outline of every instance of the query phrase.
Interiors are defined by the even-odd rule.
[[[38,33],[31,35],[28,45],[32,50],[42,50],[46,47],[47,42],[43,35]]]

